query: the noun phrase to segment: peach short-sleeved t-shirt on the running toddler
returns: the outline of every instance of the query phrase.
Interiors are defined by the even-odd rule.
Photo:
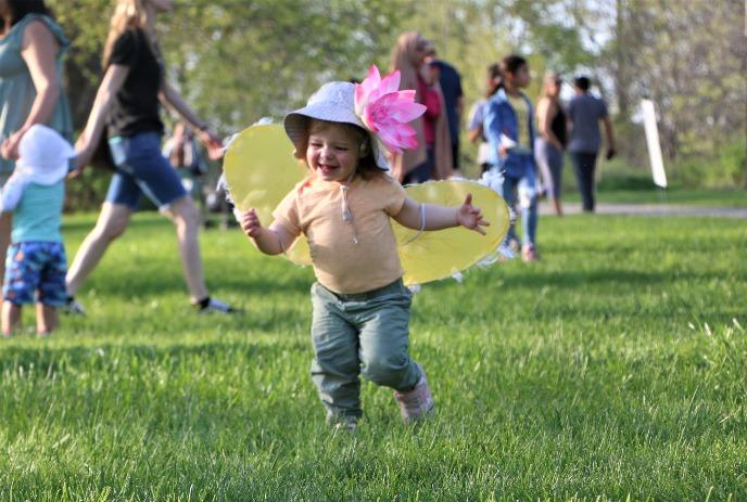
[[[405,189],[389,175],[356,176],[347,189],[353,221],[342,219],[340,183],[306,180],[282,199],[275,220],[308,241],[317,281],[342,294],[363,293],[402,276],[396,240],[389,221],[405,203]],[[358,243],[354,242],[357,235]]]

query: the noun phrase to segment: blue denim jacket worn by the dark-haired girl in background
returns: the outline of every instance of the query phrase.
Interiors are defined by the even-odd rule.
[[[516,111],[508,101],[505,89],[499,89],[488,100],[485,105],[485,119],[482,124],[482,131],[490,143],[488,163],[504,170],[506,176],[511,178],[523,178],[534,176],[534,108],[526,94],[521,98],[527,103],[529,127],[529,149],[523,153],[508,151],[508,155],[501,157],[498,146],[501,145],[501,134],[507,136],[514,141],[519,141],[518,118]]]

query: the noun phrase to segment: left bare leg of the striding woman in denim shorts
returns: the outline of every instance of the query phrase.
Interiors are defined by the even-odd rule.
[[[123,204],[105,202],[96,227],[86,236],[67,270],[67,294],[75,296],[89,273],[99,265],[104,252],[127,229],[132,209]]]

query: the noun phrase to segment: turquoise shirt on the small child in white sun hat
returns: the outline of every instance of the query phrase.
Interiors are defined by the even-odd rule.
[[[65,202],[65,180],[45,185],[28,183],[13,211],[11,241],[62,242],[62,206]]]

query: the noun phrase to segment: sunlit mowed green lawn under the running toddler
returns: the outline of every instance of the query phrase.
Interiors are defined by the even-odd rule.
[[[65,219],[69,258],[93,221]],[[0,500],[747,499],[743,220],[543,217],[541,262],[416,295],[432,420],[366,384],[355,436],[309,377],[311,270],[201,240],[243,313],[192,312],[170,224],[142,214],[87,318],[0,343]]]

